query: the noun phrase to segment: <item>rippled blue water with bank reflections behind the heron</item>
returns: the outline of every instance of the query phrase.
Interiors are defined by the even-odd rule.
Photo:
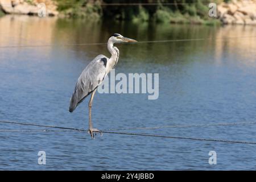
[[[0,119],[87,129],[88,98],[73,113],[68,112],[69,98],[89,61],[109,53],[105,45],[72,44],[104,43],[115,32],[139,41],[206,39],[117,45],[121,57],[115,72],[159,73],[159,98],[97,93],[94,127],[256,121],[253,26],[90,23],[27,16],[0,18]],[[48,44],[52,46],[3,48]],[[38,128],[1,123],[0,129]],[[236,125],[129,132],[256,142],[255,129],[256,125]],[[46,165],[38,164],[42,150]],[[217,165],[208,163],[212,150],[217,152]],[[83,132],[0,132],[0,169],[255,169],[255,154],[253,144],[117,134],[92,140]]]

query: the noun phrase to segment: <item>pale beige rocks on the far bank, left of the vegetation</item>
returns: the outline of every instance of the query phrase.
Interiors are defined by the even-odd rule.
[[[52,0],[0,0],[0,9],[6,14],[38,15],[40,3],[46,5],[46,15],[56,16],[59,14],[57,5]]]

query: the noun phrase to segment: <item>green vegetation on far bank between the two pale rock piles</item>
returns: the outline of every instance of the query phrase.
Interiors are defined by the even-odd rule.
[[[161,1],[111,1],[111,0],[55,0],[61,14],[73,18],[155,21],[162,23],[216,24],[219,20],[208,16],[210,2],[223,0],[161,0]],[[228,0],[224,0],[228,1]],[[140,6],[108,6],[108,3],[143,3]],[[144,3],[156,3],[145,5]],[[171,3],[166,5],[166,3]]]

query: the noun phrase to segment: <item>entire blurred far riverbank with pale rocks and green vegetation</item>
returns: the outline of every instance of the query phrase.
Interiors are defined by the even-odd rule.
[[[0,0],[3,14],[38,15],[40,3],[47,16],[88,20],[118,20],[180,24],[256,25],[256,0],[99,1],[99,0]],[[209,16],[216,3],[216,16]]]

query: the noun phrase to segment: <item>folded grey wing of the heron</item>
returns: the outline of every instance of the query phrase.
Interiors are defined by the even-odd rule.
[[[93,92],[106,76],[106,63],[108,57],[98,55],[82,71],[77,80],[75,90],[70,99],[69,111],[76,109],[86,96]]]

